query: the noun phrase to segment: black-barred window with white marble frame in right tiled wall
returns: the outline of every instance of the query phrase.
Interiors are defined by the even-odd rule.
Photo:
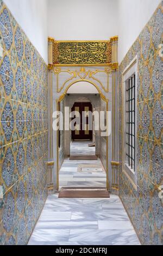
[[[137,188],[136,136],[137,136],[137,58],[123,72],[123,172]]]

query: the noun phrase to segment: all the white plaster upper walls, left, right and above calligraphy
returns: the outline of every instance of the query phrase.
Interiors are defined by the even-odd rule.
[[[4,0],[47,62],[47,36],[56,40],[108,40],[119,35],[119,62],[161,0]]]

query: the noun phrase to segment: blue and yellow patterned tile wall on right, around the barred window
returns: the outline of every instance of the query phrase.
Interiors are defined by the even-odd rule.
[[[138,58],[137,81],[137,191],[120,165],[120,197],[142,244],[163,244],[163,2],[131,46],[120,65],[120,160],[122,162],[122,73]]]

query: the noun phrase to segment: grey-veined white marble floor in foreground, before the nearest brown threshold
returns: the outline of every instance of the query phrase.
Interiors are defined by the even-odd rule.
[[[110,207],[104,209],[103,205]],[[61,199],[55,194],[48,197],[29,245],[140,245],[140,242],[117,196]]]

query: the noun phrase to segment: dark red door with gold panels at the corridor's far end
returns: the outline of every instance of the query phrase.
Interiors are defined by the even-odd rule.
[[[72,139],[92,139],[92,129],[89,127],[88,117],[86,118],[86,122],[84,124],[84,130],[82,130],[83,122],[82,122],[82,113],[83,112],[92,112],[92,105],[90,102],[76,102],[72,107],[72,111],[77,111],[80,114],[80,127],[76,126],[76,130],[72,131]],[[89,130],[91,129],[91,130]]]

